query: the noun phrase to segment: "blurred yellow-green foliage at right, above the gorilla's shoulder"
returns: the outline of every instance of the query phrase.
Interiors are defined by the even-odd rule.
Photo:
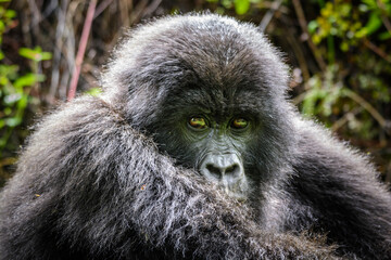
[[[319,15],[307,27],[328,66],[307,81],[302,112],[335,129],[341,127],[335,125],[336,118],[344,120],[344,133],[363,140],[390,132],[383,118],[387,115],[379,113],[391,100],[391,28],[387,27],[391,1],[362,0],[354,4],[336,0],[318,4]],[[379,125],[381,128],[376,127]]]

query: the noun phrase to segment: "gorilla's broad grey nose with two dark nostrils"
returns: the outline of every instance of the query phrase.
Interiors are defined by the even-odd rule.
[[[235,154],[209,155],[200,167],[200,171],[206,178],[240,178],[243,167],[239,157]]]

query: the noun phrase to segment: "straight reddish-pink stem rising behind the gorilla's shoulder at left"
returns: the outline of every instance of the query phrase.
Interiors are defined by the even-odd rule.
[[[80,42],[79,42],[79,47],[78,47],[78,51],[77,51],[77,55],[76,55],[76,64],[75,64],[75,68],[74,68],[73,75],[72,75],[70,91],[68,91],[68,95],[67,95],[68,101],[73,100],[76,94],[77,81],[78,81],[78,78],[80,75],[81,63],[84,60],[84,54],[86,52],[88,36],[89,36],[89,32],[91,29],[91,24],[92,24],[96,5],[97,5],[97,0],[91,0],[90,4],[88,6],[87,17],[86,17],[86,21],[85,21],[85,24],[83,27],[81,38],[80,38]]]

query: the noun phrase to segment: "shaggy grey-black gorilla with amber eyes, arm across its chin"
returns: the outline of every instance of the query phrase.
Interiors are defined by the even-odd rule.
[[[253,25],[149,22],[36,125],[1,193],[0,259],[391,259],[368,159],[304,119]]]

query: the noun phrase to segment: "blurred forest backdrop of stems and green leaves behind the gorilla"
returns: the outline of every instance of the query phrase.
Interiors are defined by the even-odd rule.
[[[203,10],[264,30],[286,53],[299,109],[370,154],[391,182],[391,0],[0,0],[0,186],[31,123],[66,101],[80,42],[77,92],[94,94],[128,27]]]

